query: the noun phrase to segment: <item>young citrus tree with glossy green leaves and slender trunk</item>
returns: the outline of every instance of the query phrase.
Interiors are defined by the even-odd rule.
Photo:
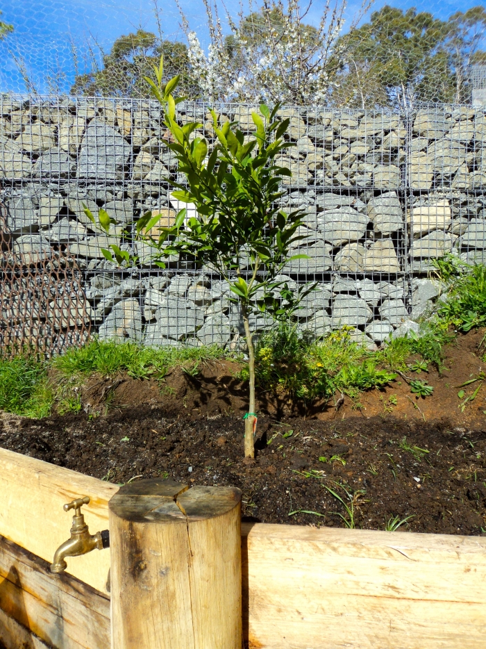
[[[151,257],[160,267],[165,268],[163,259],[167,256],[182,254],[196,265],[208,265],[228,282],[233,302],[240,308],[248,347],[249,411],[245,416],[244,452],[246,457],[253,457],[257,418],[251,315],[260,311],[282,317],[308,293],[301,290],[293,294],[278,279],[286,263],[306,257],[289,256],[292,243],[305,238],[297,231],[303,211],[287,214],[279,206],[282,176],[291,175],[278,164],[280,151],[291,146],[284,140],[290,120],[278,120],[279,106],[270,111],[262,105],[261,115],[252,114],[256,131],[248,138],[236,123],[219,124],[211,110],[216,138],[210,149],[206,139],[194,133],[201,124],[178,122],[176,104],[181,99],[172,95],[178,77],[162,83],[162,59],[160,67],[154,69],[156,79],[146,81],[164,111],[164,123],[171,135],[166,144],[174,151],[178,170],[187,180],[185,184],[170,181],[177,188],[172,196],[193,204],[196,215],[188,217],[187,210],[181,210],[172,227],[157,227],[155,237],[150,231],[160,215],[146,213],[137,221],[136,236],[151,245]],[[108,215],[101,218],[100,214],[100,221],[105,229],[109,227]],[[113,248],[118,258],[120,251]],[[112,258],[111,252],[107,254]],[[124,260],[120,257],[118,261]]]

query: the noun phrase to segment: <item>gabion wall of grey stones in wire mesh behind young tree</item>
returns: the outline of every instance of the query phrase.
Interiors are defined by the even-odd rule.
[[[168,224],[180,208],[161,180],[176,177],[177,165],[160,142],[158,104],[3,97],[0,108],[0,347],[15,329],[16,340],[31,338],[47,354],[90,333],[237,348],[240,314],[219,277],[178,258],[162,271],[146,246],[122,235],[149,209]],[[214,108],[246,133],[255,128],[249,106]],[[213,140],[208,106],[178,111],[181,123],[201,122]],[[318,282],[298,312],[303,329],[321,335],[351,325],[379,344],[410,318],[412,279],[430,270],[431,258],[455,252],[486,262],[485,112],[280,110],[296,143],[282,156],[292,170],[283,204],[308,211],[308,238],[295,252],[310,256],[288,265],[285,277],[294,286]],[[94,230],[83,203],[115,218],[112,236]],[[138,254],[139,268],[108,263],[101,248],[110,243]],[[59,265],[71,275],[60,281],[58,272],[49,284],[46,269]],[[255,325],[262,331],[269,322],[258,316]]]

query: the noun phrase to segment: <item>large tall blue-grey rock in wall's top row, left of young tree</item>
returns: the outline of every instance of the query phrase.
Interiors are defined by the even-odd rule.
[[[78,178],[121,179],[130,151],[130,145],[119,131],[103,120],[92,120],[81,143]]]

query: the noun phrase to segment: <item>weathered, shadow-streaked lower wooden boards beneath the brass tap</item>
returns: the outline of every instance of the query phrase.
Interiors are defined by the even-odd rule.
[[[0,639],[6,646],[108,649],[110,601],[0,537]],[[12,622],[8,622],[10,619]],[[17,634],[17,644],[13,644]],[[21,641],[22,640],[22,641]]]

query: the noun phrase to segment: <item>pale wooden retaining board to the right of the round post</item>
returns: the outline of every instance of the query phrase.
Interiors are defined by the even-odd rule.
[[[242,532],[251,648],[486,648],[486,539],[288,525]]]

